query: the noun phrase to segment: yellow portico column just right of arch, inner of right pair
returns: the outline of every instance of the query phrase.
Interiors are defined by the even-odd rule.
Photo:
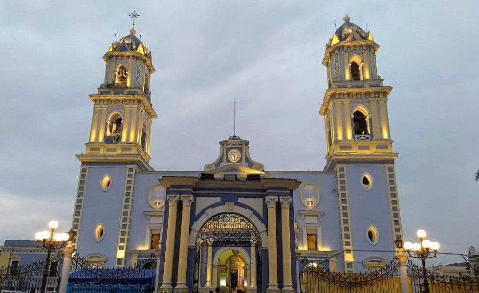
[[[269,286],[268,293],[278,293],[278,266],[276,258],[276,204],[278,197],[266,196],[264,202],[268,206],[268,264],[269,264]]]

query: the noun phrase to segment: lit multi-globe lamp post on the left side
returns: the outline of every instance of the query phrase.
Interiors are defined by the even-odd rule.
[[[73,230],[69,230],[67,233],[55,233],[55,229],[58,228],[57,221],[50,221],[48,223],[48,227],[50,228],[50,231],[44,230],[42,232],[35,233],[37,247],[46,249],[47,251],[40,293],[45,293],[46,280],[49,274],[51,252],[63,248],[65,244],[75,236],[75,231]]]

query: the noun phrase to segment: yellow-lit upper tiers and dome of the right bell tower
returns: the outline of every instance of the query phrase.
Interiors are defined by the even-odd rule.
[[[379,45],[370,32],[349,21],[326,44],[323,65],[328,89],[319,113],[326,126],[327,165],[340,161],[394,161],[387,101],[391,86],[377,73]]]

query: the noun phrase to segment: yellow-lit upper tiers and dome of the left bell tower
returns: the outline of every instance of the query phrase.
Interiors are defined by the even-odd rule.
[[[150,76],[155,71],[152,54],[130,34],[109,46],[103,56],[105,79],[93,102],[93,118],[82,162],[134,162],[150,170],[150,133],[156,118],[150,92]]]

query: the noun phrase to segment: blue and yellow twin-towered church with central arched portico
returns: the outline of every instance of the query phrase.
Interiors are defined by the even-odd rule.
[[[305,258],[344,272],[392,259],[394,239],[402,238],[387,109],[392,87],[377,73],[379,46],[370,32],[344,21],[322,62],[323,171],[268,171],[236,135],[219,142],[218,157],[203,170],[153,169],[151,52],[134,29],[112,43],[105,79],[89,95],[86,151],[77,155],[78,253],[106,267],[155,253],[159,287],[181,292],[294,292]]]

